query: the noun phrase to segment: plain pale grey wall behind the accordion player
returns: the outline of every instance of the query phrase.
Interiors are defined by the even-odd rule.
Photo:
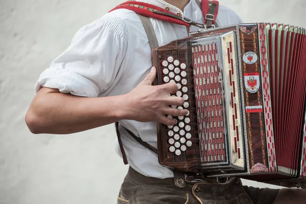
[[[127,171],[113,125],[33,135],[24,116],[39,74],[83,25],[121,0],[0,0],[0,203],[116,203]],[[304,0],[220,0],[245,22],[306,27]],[[244,184],[267,185],[244,180]],[[269,186],[277,188],[274,186]]]

